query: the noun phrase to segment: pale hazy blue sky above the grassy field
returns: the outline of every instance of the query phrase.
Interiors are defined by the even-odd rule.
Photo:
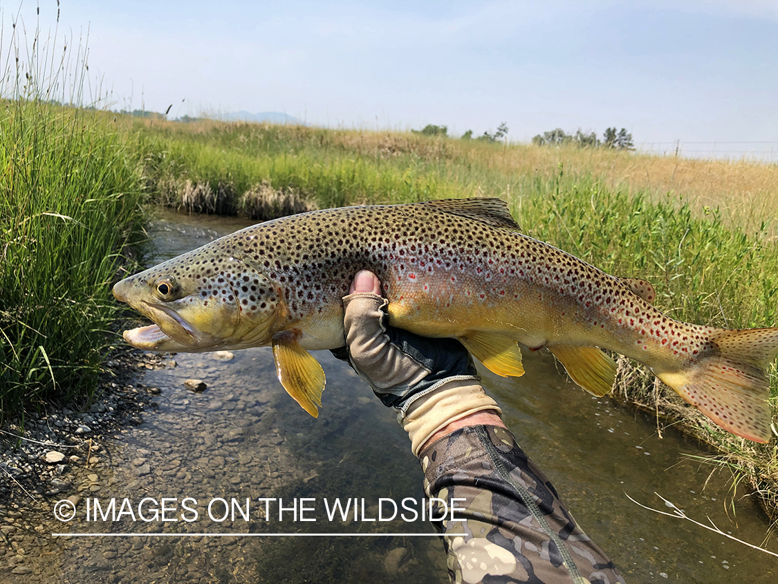
[[[56,3],[40,11],[47,29]],[[116,107],[457,134],[506,121],[514,141],[609,125],[639,144],[778,141],[776,0],[62,0],[59,33],[87,27],[90,75]]]

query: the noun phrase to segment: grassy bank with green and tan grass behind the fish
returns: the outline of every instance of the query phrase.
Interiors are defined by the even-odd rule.
[[[532,237],[650,280],[657,308],[673,318],[727,328],[778,321],[775,166],[207,121],[135,130],[154,143],[145,176],[162,204],[264,219],[272,213],[247,202],[261,188],[268,200],[294,195],[290,210],[499,196]],[[775,419],[774,364],[770,375]],[[642,366],[623,362],[619,388],[618,399],[717,448],[717,463],[732,465],[778,517],[774,443],[720,431]]]

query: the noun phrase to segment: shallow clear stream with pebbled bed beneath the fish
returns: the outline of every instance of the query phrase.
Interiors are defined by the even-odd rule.
[[[160,213],[153,226],[154,261],[246,224]],[[0,566],[0,582],[447,582],[443,546],[435,537],[240,535],[432,531],[421,520],[369,520],[379,512],[391,515],[386,501],[378,508],[379,498],[421,501],[422,473],[394,413],[329,352],[315,356],[328,378],[317,420],[283,391],[267,348],[236,351],[231,360],[177,354],[165,368],[139,374],[140,382],[160,389],[156,410],[145,413],[144,423],[127,428],[121,439],[104,445],[103,463],[85,471],[78,484],[75,519],[58,522],[49,514],[36,519],[38,537],[24,550],[32,573],[2,574]],[[762,544],[768,529],[762,512],[746,497],[738,498],[734,512],[729,508],[727,513],[729,474],[716,471],[711,476],[713,467],[689,457],[706,452],[671,429],[660,438],[651,417],[577,389],[550,354],[526,354],[525,368],[524,377],[513,380],[486,371],[485,387],[503,406],[506,424],[520,445],[627,582],[778,580],[778,558],[629,500],[628,495],[669,511],[656,492],[692,519],[710,518],[725,533]],[[187,378],[202,379],[208,387],[202,393],[188,391]],[[740,497],[743,492],[738,492]],[[111,498],[115,511],[127,505],[125,512],[115,522],[100,515],[87,521],[86,503],[94,512],[94,498],[103,513]],[[145,501],[146,519],[166,505],[165,519],[171,520],[139,517],[143,498],[154,501]],[[229,504],[233,498],[234,520],[229,515],[222,520],[222,501]],[[282,519],[278,501],[267,501],[266,518],[265,502],[258,498],[282,498]],[[306,509],[299,515],[303,498],[308,499],[302,502]],[[358,520],[353,506],[348,521],[328,519],[335,499],[346,505],[355,498]],[[294,500],[298,505],[293,511]],[[198,513],[197,519],[189,520],[195,511],[184,505]],[[419,504],[408,506],[419,511]],[[300,521],[302,517],[315,521]],[[778,552],[776,537],[764,545]]]

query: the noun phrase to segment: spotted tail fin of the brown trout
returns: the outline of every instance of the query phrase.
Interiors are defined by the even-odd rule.
[[[765,369],[778,354],[778,328],[718,329],[710,340],[713,347],[688,368],[655,371],[657,377],[724,430],[768,442],[772,420]]]

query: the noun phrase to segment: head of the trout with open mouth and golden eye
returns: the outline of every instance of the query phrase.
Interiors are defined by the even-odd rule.
[[[279,287],[206,245],[114,285],[114,297],[154,324],[124,331],[143,350],[198,353],[264,347],[283,316]]]

